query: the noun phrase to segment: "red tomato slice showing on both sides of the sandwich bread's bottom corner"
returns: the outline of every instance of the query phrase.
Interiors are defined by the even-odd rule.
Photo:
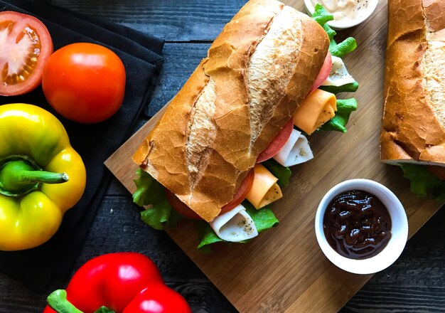
[[[235,208],[235,206],[240,204],[246,198],[247,193],[249,193],[250,189],[252,188],[253,178],[254,172],[253,170],[250,170],[249,174],[247,174],[245,179],[242,180],[240,189],[238,189],[237,193],[235,193],[233,200],[223,206],[223,208],[221,208],[220,215],[232,210],[232,208]],[[200,218],[200,216],[198,216],[198,214],[195,213],[195,211],[186,206],[186,203],[183,203],[183,201],[179,200],[176,194],[169,191],[168,189],[165,189],[165,192],[168,203],[170,203],[171,207],[178,213],[181,213],[183,216],[186,216],[188,218],[192,218],[193,220],[202,219]]]

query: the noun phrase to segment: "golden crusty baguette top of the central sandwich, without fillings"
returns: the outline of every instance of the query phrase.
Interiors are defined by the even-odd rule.
[[[328,46],[326,32],[306,14],[279,1],[249,1],[134,161],[212,221],[308,94]]]

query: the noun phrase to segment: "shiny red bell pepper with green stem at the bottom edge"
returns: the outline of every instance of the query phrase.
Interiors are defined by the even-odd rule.
[[[110,253],[86,262],[65,290],[48,297],[43,313],[191,313],[178,292],[140,253]]]

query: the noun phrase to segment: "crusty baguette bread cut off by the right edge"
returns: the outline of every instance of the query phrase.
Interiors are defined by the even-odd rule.
[[[445,166],[445,0],[390,0],[380,156]]]

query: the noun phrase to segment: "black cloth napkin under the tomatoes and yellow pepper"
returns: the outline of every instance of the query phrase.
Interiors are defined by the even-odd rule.
[[[36,292],[65,285],[87,231],[109,186],[111,174],[103,162],[129,137],[149,102],[162,63],[163,41],[124,26],[75,14],[42,1],[1,1],[1,11],[18,11],[39,18],[53,38],[54,50],[75,42],[99,43],[112,49],[125,65],[127,85],[122,107],[99,124],[78,124],[58,115],[41,87],[27,95],[0,97],[0,105],[23,102],[39,105],[63,123],[70,142],[87,169],[87,186],[80,201],[63,218],[62,226],[38,248],[0,252],[0,270]],[[36,221],[38,223],[38,221]]]

